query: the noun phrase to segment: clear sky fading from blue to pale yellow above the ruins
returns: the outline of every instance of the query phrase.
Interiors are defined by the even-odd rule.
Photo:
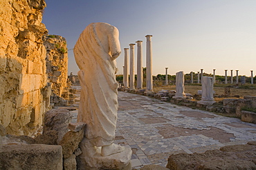
[[[120,32],[122,54],[117,59],[122,74],[124,48],[152,34],[153,74],[183,71],[223,75],[256,74],[255,0],[46,0],[43,23],[49,34],[64,36],[68,49],[86,25],[106,22]],[[135,48],[135,54],[136,48]],[[79,70],[68,51],[68,74]],[[135,55],[136,60],[136,55]],[[136,69],[135,69],[136,70]],[[233,75],[235,72],[233,73]]]

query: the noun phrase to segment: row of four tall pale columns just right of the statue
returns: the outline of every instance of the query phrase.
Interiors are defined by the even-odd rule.
[[[147,91],[153,91],[153,72],[152,72],[152,35],[146,35],[146,84]],[[136,41],[137,43],[137,87],[136,89],[143,89],[143,41]],[[130,82],[129,82],[129,48],[125,48],[125,65],[123,66],[123,83],[125,89],[134,90],[135,74],[134,74],[134,43],[130,43]]]

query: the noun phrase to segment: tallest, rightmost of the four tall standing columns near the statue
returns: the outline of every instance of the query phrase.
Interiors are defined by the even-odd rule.
[[[146,67],[147,67],[147,89],[146,91],[153,91],[153,73],[152,73],[152,35],[146,35],[147,38],[147,54],[146,54]]]

